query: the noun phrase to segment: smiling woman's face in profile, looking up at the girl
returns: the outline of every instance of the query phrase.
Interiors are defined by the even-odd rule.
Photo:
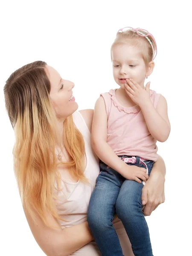
[[[74,113],[78,105],[72,96],[73,82],[64,80],[53,68],[46,65],[46,73],[51,84],[49,96],[52,100],[58,119],[66,119]]]

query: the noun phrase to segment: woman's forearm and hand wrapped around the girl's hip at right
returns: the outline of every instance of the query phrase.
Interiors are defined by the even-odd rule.
[[[163,158],[159,155],[154,163],[151,174],[145,182],[142,190],[142,204],[145,205],[143,214],[151,215],[160,204],[165,202],[164,184],[165,184],[166,166]],[[145,202],[143,202],[143,200]]]

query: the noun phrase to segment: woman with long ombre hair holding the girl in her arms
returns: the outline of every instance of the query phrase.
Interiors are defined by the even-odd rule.
[[[93,110],[76,111],[74,84],[43,61],[16,70],[4,87],[15,130],[14,170],[23,209],[47,256],[99,256],[87,224],[98,159],[91,148]],[[143,187],[144,215],[164,202],[165,166],[154,163]],[[144,204],[143,204],[144,205]],[[121,221],[113,221],[125,256],[133,256]]]

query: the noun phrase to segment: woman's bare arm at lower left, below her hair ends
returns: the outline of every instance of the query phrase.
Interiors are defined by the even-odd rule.
[[[68,256],[94,240],[87,221],[61,229],[55,218],[47,213],[51,228],[46,227],[38,216],[35,224],[28,211],[24,209],[24,212],[35,240],[47,256]]]

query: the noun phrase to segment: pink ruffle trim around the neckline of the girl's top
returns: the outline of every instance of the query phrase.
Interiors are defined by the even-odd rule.
[[[154,91],[150,90],[150,96],[154,93]],[[122,105],[119,104],[119,102],[116,99],[115,96],[115,89],[111,89],[109,91],[109,94],[111,95],[111,100],[113,101],[113,104],[116,108],[118,108],[119,111],[124,111],[125,113],[138,113],[141,108],[139,105],[135,105],[133,107],[123,107]]]

